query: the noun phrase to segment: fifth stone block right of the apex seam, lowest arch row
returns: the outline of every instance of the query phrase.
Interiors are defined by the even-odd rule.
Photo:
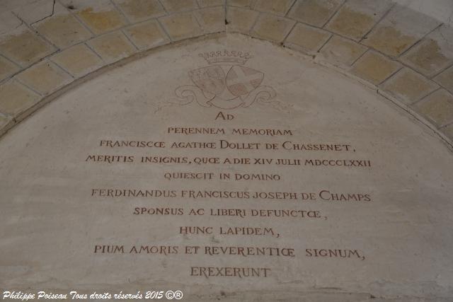
[[[375,85],[382,83],[401,68],[398,62],[369,50],[352,66],[352,74],[360,76]]]

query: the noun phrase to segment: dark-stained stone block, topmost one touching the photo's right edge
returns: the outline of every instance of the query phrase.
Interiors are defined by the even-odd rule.
[[[453,63],[453,30],[437,28],[401,57],[401,61],[431,77]]]

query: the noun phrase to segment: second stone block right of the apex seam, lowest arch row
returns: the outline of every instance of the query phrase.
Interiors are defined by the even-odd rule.
[[[258,17],[251,33],[266,40],[282,42],[293,26],[294,21],[290,19],[263,13]]]

